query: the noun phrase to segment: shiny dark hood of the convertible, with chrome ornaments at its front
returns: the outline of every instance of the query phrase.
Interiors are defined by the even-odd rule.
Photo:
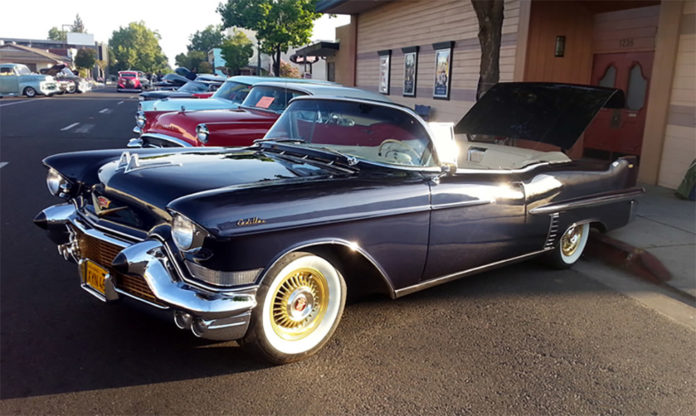
[[[133,162],[133,158],[137,158]],[[130,162],[130,166],[128,163]],[[104,193],[165,215],[167,205],[202,191],[328,177],[334,170],[251,149],[124,152],[98,172]]]

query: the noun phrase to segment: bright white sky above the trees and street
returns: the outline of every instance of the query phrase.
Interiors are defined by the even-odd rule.
[[[47,39],[48,30],[72,25],[79,14],[88,33],[97,42],[107,43],[114,30],[130,22],[144,21],[148,29],[159,32],[160,46],[174,67],[174,56],[186,52],[189,37],[206,26],[222,23],[215,11],[221,0],[195,2],[144,0],[98,2],[94,0],[32,0],[3,2],[0,37]],[[192,5],[192,6],[191,6]],[[314,24],[312,40],[334,40],[334,28],[348,24],[350,16],[324,15]]]

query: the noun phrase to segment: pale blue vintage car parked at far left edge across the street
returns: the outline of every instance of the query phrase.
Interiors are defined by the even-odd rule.
[[[50,75],[32,73],[26,65],[0,64],[0,97],[26,95],[51,96],[58,92],[58,84]]]

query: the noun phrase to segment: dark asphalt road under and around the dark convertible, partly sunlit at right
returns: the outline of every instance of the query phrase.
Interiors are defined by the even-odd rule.
[[[364,299],[279,367],[100,303],[32,224],[57,201],[41,159],[122,147],[134,97],[0,100],[1,414],[696,414],[696,333],[578,270]]]

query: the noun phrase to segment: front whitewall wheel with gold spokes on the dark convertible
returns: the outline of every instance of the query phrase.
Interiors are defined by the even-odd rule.
[[[325,258],[296,252],[269,270],[257,300],[242,344],[284,364],[314,354],[329,340],[343,314],[346,284]]]

